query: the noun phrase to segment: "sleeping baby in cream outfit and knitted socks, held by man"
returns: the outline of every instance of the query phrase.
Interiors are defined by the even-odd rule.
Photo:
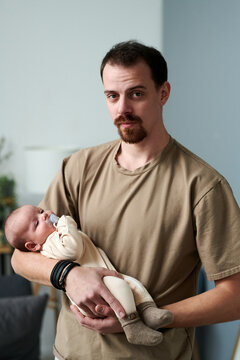
[[[104,251],[77,229],[76,222],[70,216],[58,218],[51,211],[24,205],[6,219],[5,235],[10,245],[22,251],[37,251],[53,259],[76,260],[81,266],[100,266],[115,270]],[[156,329],[170,324],[173,314],[158,309],[138,280],[122,276],[124,280],[105,276],[103,281],[125,309],[126,316],[119,321],[128,341],[146,346],[158,345],[163,335]],[[71,299],[70,301],[76,305]],[[81,308],[79,310],[85,314]]]

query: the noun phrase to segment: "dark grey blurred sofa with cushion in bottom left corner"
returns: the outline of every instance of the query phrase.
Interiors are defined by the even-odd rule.
[[[39,360],[40,331],[48,295],[33,295],[31,283],[0,276],[0,360]]]

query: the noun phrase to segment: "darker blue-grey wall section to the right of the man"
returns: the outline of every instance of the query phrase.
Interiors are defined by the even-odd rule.
[[[230,182],[240,203],[240,2],[165,0],[168,130]],[[207,288],[213,286],[206,283]],[[239,321],[200,329],[203,360],[231,358]]]

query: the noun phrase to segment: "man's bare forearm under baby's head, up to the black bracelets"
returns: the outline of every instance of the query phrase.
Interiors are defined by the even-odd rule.
[[[50,274],[58,260],[49,259],[40,253],[14,250],[12,267],[26,279],[50,286]]]

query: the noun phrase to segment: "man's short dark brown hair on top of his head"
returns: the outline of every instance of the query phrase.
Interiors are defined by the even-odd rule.
[[[134,40],[118,43],[107,52],[100,67],[101,78],[107,63],[128,67],[135,65],[140,60],[149,66],[156,87],[167,81],[167,63],[160,51]]]

